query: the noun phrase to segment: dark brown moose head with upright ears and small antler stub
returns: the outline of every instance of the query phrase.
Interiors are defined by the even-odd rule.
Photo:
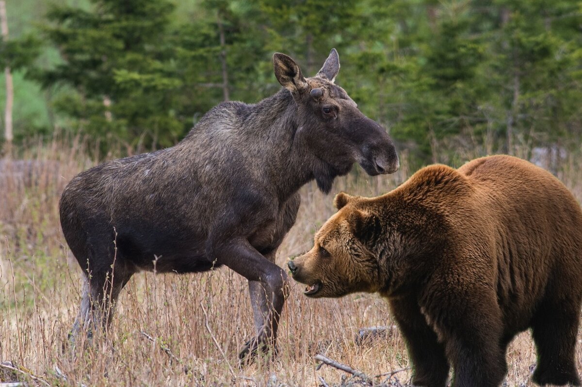
[[[369,175],[398,170],[396,149],[382,126],[364,116],[346,91],[334,83],[339,56],[334,49],[311,78],[289,56],[275,53],[275,76],[297,104],[296,136],[314,157],[314,177],[324,192],[333,178],[347,174],[357,162]]]

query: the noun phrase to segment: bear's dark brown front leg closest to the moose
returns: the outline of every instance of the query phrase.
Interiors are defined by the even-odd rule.
[[[444,387],[450,368],[445,347],[420,313],[418,303],[413,299],[398,299],[391,300],[390,304],[412,361],[412,384]]]

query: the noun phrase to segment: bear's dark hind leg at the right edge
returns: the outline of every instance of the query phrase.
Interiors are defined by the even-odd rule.
[[[573,301],[546,302],[538,309],[531,324],[538,354],[535,383],[580,386],[575,362],[579,320]]]

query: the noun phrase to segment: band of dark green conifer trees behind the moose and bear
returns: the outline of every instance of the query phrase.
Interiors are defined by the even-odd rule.
[[[454,156],[451,144],[513,152],[582,135],[581,1],[66,4],[37,22],[58,61],[32,71],[32,41],[0,45],[0,58],[51,91],[62,126],[128,149],[172,145],[226,96],[275,92],[273,52],[311,76],[332,47],[338,84],[420,163]]]

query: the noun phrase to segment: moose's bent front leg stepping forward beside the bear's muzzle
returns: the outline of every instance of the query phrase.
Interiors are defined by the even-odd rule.
[[[230,242],[217,252],[218,261],[249,279],[249,291],[257,336],[239,353],[240,361],[275,350],[279,317],[289,293],[285,271],[261,255],[246,239]],[[274,257],[274,253],[273,253]]]

